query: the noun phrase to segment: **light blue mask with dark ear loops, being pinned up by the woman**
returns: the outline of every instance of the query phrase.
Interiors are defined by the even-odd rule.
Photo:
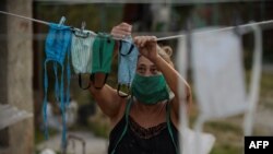
[[[139,50],[132,44],[131,37],[119,42],[118,94],[122,85],[127,85],[130,88],[136,69],[138,56]]]

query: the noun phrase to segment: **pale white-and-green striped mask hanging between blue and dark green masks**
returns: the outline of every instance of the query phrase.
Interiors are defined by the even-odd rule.
[[[92,48],[95,39],[92,31],[74,28],[72,34],[71,56],[74,72],[79,74],[79,85],[82,87],[82,73],[92,73]]]

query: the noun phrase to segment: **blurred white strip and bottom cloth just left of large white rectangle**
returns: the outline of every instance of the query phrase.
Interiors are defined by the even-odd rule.
[[[178,43],[178,71],[187,80],[187,69],[188,69],[188,50],[187,50],[187,39],[181,37]],[[179,83],[179,93],[185,93],[183,83]],[[199,130],[191,130],[188,127],[188,115],[186,105],[182,104],[180,107],[180,120],[179,132],[181,132],[180,140],[180,151],[182,154],[209,154],[214,145],[215,137],[211,133],[201,132]]]

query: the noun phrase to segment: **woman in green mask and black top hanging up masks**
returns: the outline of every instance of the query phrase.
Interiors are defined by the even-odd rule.
[[[115,37],[131,35],[132,26],[121,23],[111,29]],[[154,36],[136,36],[139,48],[132,97],[123,98],[109,85],[90,91],[103,112],[110,118],[109,154],[178,153],[179,104],[190,103],[188,83],[174,69],[171,49],[159,47]],[[178,83],[186,85],[178,98]],[[174,96],[169,97],[169,90]]]

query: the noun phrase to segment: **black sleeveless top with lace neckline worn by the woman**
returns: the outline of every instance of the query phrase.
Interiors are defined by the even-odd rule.
[[[152,128],[139,126],[130,116],[129,100],[126,114],[110,132],[108,154],[178,154],[178,130],[169,117]]]

